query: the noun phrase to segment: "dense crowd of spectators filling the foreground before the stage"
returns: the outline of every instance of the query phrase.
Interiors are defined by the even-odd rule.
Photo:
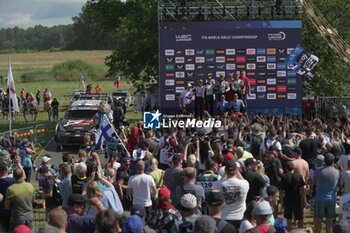
[[[305,211],[316,233],[324,219],[327,233],[350,232],[346,115],[306,121],[243,113],[222,120],[220,128],[120,126],[99,150],[86,137],[61,164],[42,158],[39,191],[29,183],[30,141],[3,147],[0,231],[33,230],[32,202],[39,198],[48,221],[39,232],[312,232],[304,228]]]

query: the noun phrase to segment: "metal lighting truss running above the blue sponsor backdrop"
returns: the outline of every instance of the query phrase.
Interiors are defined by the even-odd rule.
[[[298,0],[158,1],[159,21],[299,20],[301,13]]]

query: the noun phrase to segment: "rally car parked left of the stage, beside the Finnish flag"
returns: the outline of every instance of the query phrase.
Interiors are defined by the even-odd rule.
[[[100,110],[102,101],[78,100],[69,106],[64,118],[56,125],[57,149],[63,149],[67,145],[83,145],[83,137],[96,130],[97,122],[93,120],[93,116]]]

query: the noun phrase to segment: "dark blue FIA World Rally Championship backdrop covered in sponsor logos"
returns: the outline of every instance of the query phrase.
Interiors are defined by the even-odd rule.
[[[251,86],[249,114],[300,115],[302,77],[285,60],[301,44],[301,26],[300,20],[161,22],[161,112],[179,113],[179,96],[188,83],[244,70]]]

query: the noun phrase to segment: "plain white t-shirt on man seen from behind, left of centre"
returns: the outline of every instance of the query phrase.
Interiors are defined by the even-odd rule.
[[[132,204],[144,207],[151,206],[151,187],[155,186],[156,184],[150,175],[143,173],[131,176],[129,179],[128,188],[132,189]]]

